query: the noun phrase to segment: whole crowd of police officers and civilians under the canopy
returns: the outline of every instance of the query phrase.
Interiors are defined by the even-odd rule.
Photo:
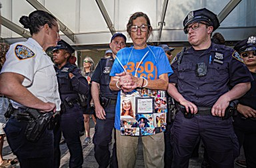
[[[97,66],[85,57],[79,68],[53,15],[37,10],[19,22],[31,38],[0,44],[0,103],[10,107],[1,108],[8,122],[0,123],[0,167],[17,160],[25,168],[59,167],[61,134],[69,167],[83,167],[90,117],[99,167],[135,167],[139,137],[145,167],[189,167],[199,141],[207,153],[202,167],[256,167],[254,35],[227,47],[220,33],[212,36],[220,25],[217,15],[198,9],[183,21],[191,47],[173,58],[174,48],[147,44],[151,21],[136,12],[126,30],[131,47],[123,33],[115,33]],[[53,61],[45,52],[49,47]],[[175,119],[167,115],[168,97],[177,103]],[[5,135],[17,160],[1,155]],[[235,161],[242,145],[245,160]]]

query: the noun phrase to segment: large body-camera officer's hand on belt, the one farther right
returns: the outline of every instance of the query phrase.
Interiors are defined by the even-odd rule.
[[[225,110],[229,106],[229,101],[225,99],[225,97],[221,96],[216,101],[216,103],[213,105],[213,108],[211,108],[211,115],[218,116],[218,117],[224,117],[225,116]]]

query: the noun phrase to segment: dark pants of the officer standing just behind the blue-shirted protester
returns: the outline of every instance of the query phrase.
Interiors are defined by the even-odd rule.
[[[109,163],[111,163],[110,167],[118,167],[115,144],[112,161],[110,161],[109,151],[109,143],[112,139],[112,130],[115,123],[115,105],[109,105],[105,108],[105,113],[106,119],[97,119],[95,125],[95,134],[93,136],[95,159],[99,167],[107,167]]]

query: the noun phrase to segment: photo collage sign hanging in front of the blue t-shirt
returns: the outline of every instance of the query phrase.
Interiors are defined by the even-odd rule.
[[[131,93],[121,91],[121,135],[145,136],[166,129],[166,91],[137,89]]]

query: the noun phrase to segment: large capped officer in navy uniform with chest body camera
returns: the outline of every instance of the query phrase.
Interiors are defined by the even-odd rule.
[[[172,167],[189,166],[200,136],[211,167],[233,168],[239,145],[225,109],[250,89],[253,79],[239,53],[211,43],[211,33],[219,27],[217,15],[205,8],[191,11],[183,25],[192,47],[171,64],[168,93],[179,102],[171,129]]]

